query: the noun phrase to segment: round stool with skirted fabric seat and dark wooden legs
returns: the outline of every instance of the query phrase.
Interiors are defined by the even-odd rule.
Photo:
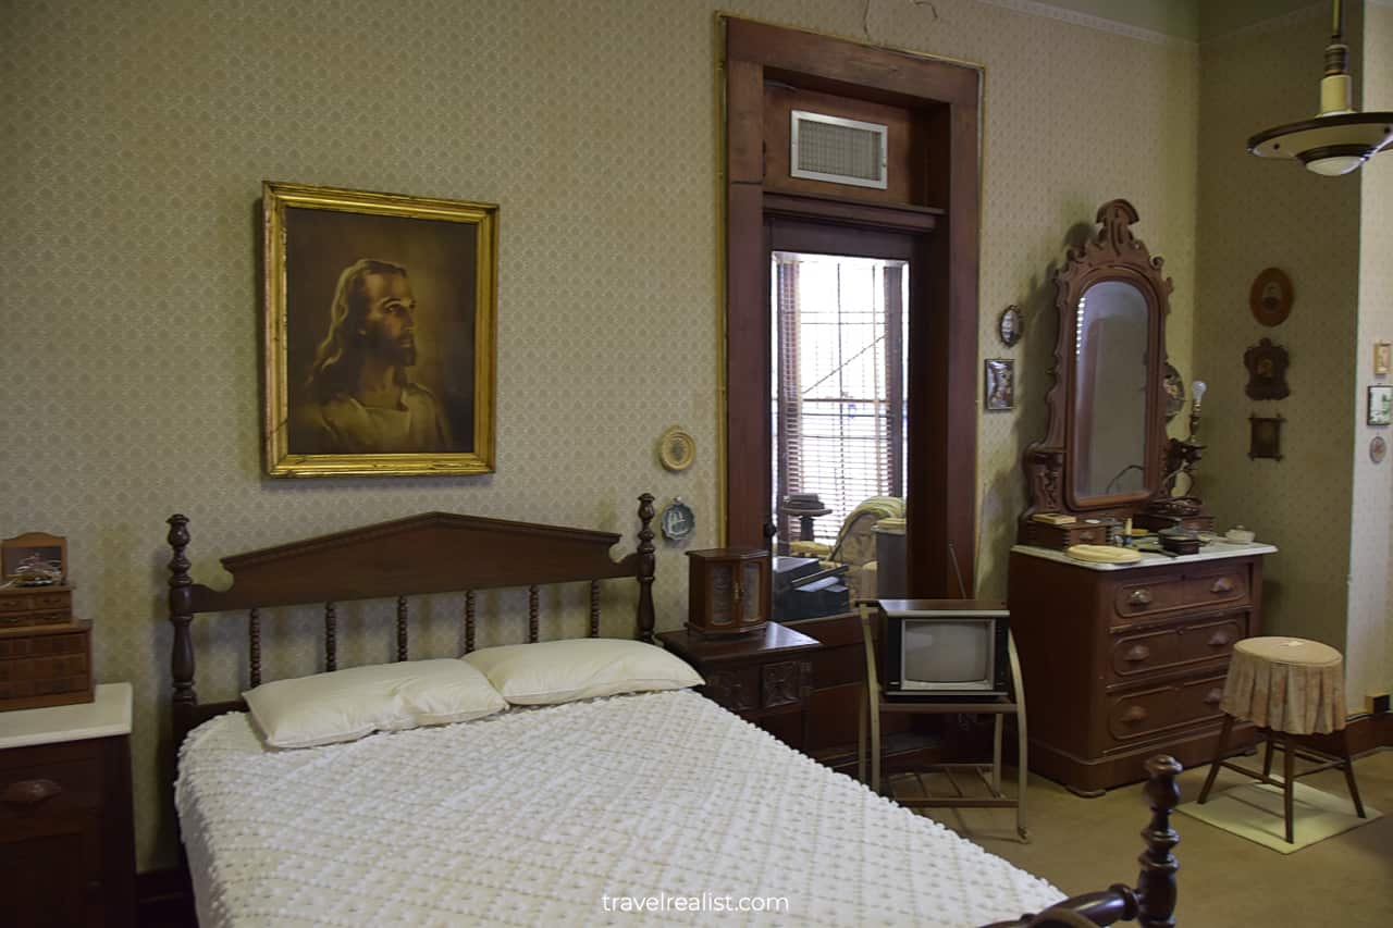
[[[1354,811],[1364,815],[1360,801],[1360,787],[1354,783],[1354,765],[1350,762],[1350,743],[1344,736],[1344,658],[1330,645],[1305,638],[1244,638],[1233,647],[1233,662],[1224,680],[1223,730],[1219,733],[1219,747],[1205,787],[1199,790],[1199,803],[1209,798],[1215,776],[1220,766],[1251,776],[1269,786],[1280,786],[1283,812],[1287,823],[1287,843],[1294,843],[1291,828],[1291,789],[1301,776],[1319,773],[1332,768],[1344,771],[1344,782],[1354,801]],[[1266,738],[1266,757],[1262,773],[1223,759],[1233,732],[1234,720],[1252,722]],[[1300,736],[1332,734],[1340,732],[1340,752],[1337,755],[1316,750],[1309,744],[1297,744]],[[1272,744],[1282,744],[1282,780],[1272,779]],[[1318,766],[1295,772],[1295,758],[1314,761]]]

